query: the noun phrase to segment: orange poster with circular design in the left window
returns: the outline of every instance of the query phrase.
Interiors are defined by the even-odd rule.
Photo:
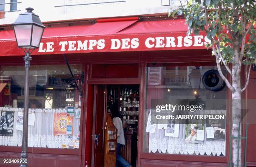
[[[67,135],[67,128],[73,127],[73,119],[67,113],[54,114],[54,135]]]

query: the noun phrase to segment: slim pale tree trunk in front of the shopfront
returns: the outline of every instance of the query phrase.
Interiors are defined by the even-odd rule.
[[[235,91],[232,93],[232,119],[233,119],[232,135],[233,137],[238,137],[238,134],[240,134],[241,136],[241,128],[240,128],[240,132],[238,131],[238,126],[241,123],[241,76],[240,76],[241,66],[240,64],[239,63],[233,64],[232,71],[233,71],[232,86],[235,88]],[[238,149],[238,144],[239,144],[239,149]],[[242,167],[241,140],[239,140],[238,142],[238,139],[233,139],[232,147],[233,147],[232,148],[233,163],[235,164],[235,167]]]

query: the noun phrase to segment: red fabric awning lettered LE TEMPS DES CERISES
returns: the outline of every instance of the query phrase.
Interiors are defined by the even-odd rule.
[[[97,20],[92,25],[46,28],[33,55],[89,52],[205,49],[205,33],[187,36],[184,19]],[[0,56],[24,55],[13,30],[0,31]]]

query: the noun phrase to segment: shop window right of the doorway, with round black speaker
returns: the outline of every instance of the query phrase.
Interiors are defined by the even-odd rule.
[[[216,66],[148,64],[143,152],[226,156],[226,91]]]

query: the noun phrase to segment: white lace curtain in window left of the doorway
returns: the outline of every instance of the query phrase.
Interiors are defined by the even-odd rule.
[[[22,145],[22,131],[16,129],[16,123],[18,112],[22,112],[23,109],[0,107],[0,111],[14,111],[13,136],[0,136],[0,145],[20,147]],[[54,136],[54,114],[67,113],[66,109],[29,109],[29,112],[36,114],[34,126],[28,126],[28,147],[62,148],[62,145],[74,146],[74,140],[77,140],[79,133],[80,118],[72,117],[72,136]]]

